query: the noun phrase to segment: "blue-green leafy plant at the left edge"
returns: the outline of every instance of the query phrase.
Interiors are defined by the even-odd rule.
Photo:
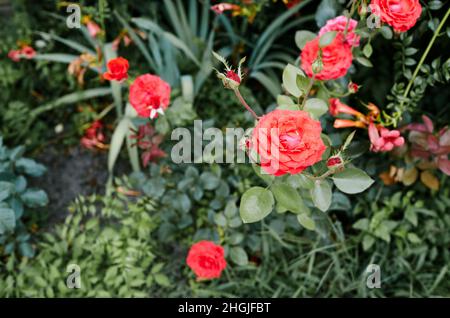
[[[28,187],[27,177],[40,177],[46,168],[23,157],[25,147],[8,148],[0,136],[0,255],[33,257],[29,223],[48,204],[47,194]]]

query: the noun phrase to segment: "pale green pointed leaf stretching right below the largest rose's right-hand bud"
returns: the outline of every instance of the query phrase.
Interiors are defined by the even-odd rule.
[[[332,177],[336,187],[344,193],[360,193],[369,188],[374,181],[364,171],[347,168]]]

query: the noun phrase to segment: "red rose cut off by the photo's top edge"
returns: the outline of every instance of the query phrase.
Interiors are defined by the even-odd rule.
[[[422,14],[419,0],[372,0],[370,8],[397,32],[411,29]]]

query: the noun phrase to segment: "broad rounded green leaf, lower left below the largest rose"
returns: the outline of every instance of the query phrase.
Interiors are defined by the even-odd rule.
[[[274,203],[272,192],[253,187],[242,195],[239,213],[244,223],[258,222],[272,212]]]

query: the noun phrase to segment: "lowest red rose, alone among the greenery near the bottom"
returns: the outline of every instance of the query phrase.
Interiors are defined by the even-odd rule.
[[[219,278],[227,267],[224,254],[222,246],[200,241],[192,245],[186,263],[199,279]]]

